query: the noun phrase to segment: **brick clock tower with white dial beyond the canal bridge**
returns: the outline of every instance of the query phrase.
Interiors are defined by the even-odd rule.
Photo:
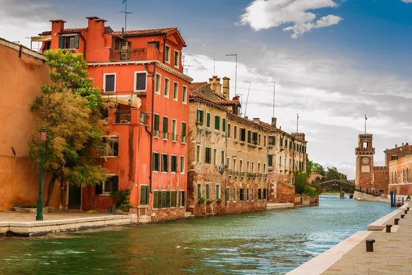
[[[374,155],[375,148],[372,147],[372,135],[361,134],[358,137],[356,155],[356,185],[366,188],[375,188],[374,179]]]

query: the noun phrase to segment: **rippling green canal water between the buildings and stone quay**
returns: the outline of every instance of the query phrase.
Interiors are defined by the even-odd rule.
[[[387,203],[335,197],[310,208],[4,238],[0,274],[284,274],[389,212]]]

